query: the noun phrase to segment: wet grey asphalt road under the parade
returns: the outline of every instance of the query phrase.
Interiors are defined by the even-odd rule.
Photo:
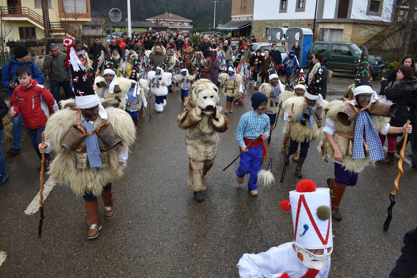
[[[344,94],[353,77],[333,77],[328,99]],[[379,82],[374,88],[379,89]],[[148,114],[140,120],[129,168],[113,186],[116,216],[105,219],[100,206],[103,229],[94,240],[85,238],[82,197],[60,185],[45,201],[43,237],[38,239],[38,212],[24,212],[39,190],[37,159],[25,133],[22,154],[6,155],[10,180],[0,188],[1,277],[237,277],[236,263],[244,253],[259,253],[292,240],[291,213],[281,211],[279,203],[288,199],[298,181],[293,162],[284,184],[260,187],[256,198],[248,195],[246,185],[236,183],[237,163],[222,171],[238,154],[236,125],[241,114],[251,109],[253,89],[246,106],[235,106],[228,115],[230,128],[220,135],[203,203],[194,201],[186,188],[188,157],[184,131],[176,123],[183,109],[177,90],[168,95],[163,113],[154,112],[151,122]],[[277,180],[283,165],[281,128],[279,122],[270,145]],[[3,143],[4,150],[9,147],[9,142]],[[316,147],[317,142],[312,143],[303,172],[325,187],[333,165],[320,159]],[[406,164],[404,171],[388,232],[382,224],[396,166],[368,167],[357,186],[347,189],[341,204],[343,220],[333,224],[330,277],[388,276],[400,255],[404,233],[417,223],[417,172]]]

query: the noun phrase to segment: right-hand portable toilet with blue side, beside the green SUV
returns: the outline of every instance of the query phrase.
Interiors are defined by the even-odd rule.
[[[313,32],[308,28],[291,27],[286,30],[286,42],[288,42],[288,51],[298,42],[300,46],[300,67],[307,67],[307,55],[313,44]]]

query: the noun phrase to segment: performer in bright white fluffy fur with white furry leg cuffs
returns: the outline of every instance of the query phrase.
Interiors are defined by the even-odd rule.
[[[166,106],[165,97],[168,94],[168,86],[172,83],[172,74],[164,72],[168,66],[168,60],[165,60],[163,65],[159,65],[155,70],[148,72],[150,92],[155,96],[155,110],[158,113],[163,111]]]

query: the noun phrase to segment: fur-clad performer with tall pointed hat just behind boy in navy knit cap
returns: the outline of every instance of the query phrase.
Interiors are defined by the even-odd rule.
[[[284,86],[276,74],[274,65],[271,64],[269,67],[269,83],[262,83],[259,86],[259,92],[266,95],[268,98],[268,105],[266,106],[266,115],[269,117],[271,129],[276,121],[276,113],[279,110],[279,95],[284,92]]]

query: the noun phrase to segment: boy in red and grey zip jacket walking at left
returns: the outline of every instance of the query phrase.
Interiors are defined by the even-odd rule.
[[[42,142],[41,133],[45,130],[49,116],[59,110],[58,104],[45,87],[32,79],[27,67],[19,67],[16,76],[19,86],[10,98],[10,116],[17,117],[22,113],[33,148],[39,159],[42,159],[38,149]],[[40,166],[38,170],[40,171]],[[49,154],[45,154],[45,170],[49,170]]]

